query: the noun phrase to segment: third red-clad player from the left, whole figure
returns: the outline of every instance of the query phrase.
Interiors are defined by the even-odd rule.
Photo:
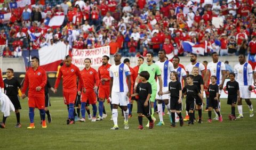
[[[81,76],[84,80],[84,86],[86,89],[85,93],[81,95],[81,82],[78,84],[78,95],[81,95],[81,114],[82,118],[79,120],[81,122],[85,122],[85,105],[86,102],[89,101],[89,104],[92,105],[92,122],[96,121],[97,114],[97,96],[94,90],[98,89],[99,86],[99,76],[95,69],[91,68],[92,61],[88,58],[84,60],[85,68],[81,71]]]

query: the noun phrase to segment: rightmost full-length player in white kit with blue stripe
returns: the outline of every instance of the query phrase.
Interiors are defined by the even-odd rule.
[[[243,106],[242,106],[242,99],[245,99],[249,109],[250,109],[250,117],[253,117],[253,107],[252,102],[250,101],[251,98],[251,90],[252,90],[252,66],[251,64],[246,62],[245,55],[240,54],[239,56],[239,63],[234,67],[234,73],[236,74],[236,81],[239,84],[240,90],[240,98],[238,99],[237,109],[239,115],[237,118],[243,118]]]

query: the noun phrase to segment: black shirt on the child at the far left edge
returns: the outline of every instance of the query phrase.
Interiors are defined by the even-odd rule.
[[[18,95],[18,87],[21,88],[21,85],[17,78],[4,79],[4,91],[7,96]]]

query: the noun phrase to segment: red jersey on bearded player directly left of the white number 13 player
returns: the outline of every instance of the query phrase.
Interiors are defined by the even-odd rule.
[[[110,68],[110,64],[105,65],[101,65],[98,69],[98,74],[99,74],[99,78],[107,78],[108,81],[105,81],[104,84],[102,85],[102,82],[100,82],[100,86],[110,86],[110,76],[109,76],[109,68]]]

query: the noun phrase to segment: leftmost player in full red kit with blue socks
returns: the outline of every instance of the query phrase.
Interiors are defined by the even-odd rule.
[[[45,99],[44,87],[47,82],[46,72],[39,66],[39,59],[36,56],[31,57],[31,68],[25,75],[24,85],[22,88],[22,99],[26,97],[25,92],[28,88],[28,106],[30,126],[28,129],[34,129],[34,110],[37,108],[42,115],[42,128],[47,128],[45,121]]]

